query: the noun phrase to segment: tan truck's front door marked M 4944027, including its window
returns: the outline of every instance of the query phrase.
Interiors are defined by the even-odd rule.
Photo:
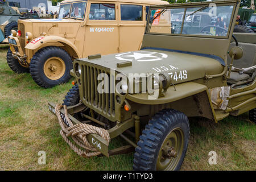
[[[86,21],[84,57],[119,51],[119,27],[116,3],[89,2]]]

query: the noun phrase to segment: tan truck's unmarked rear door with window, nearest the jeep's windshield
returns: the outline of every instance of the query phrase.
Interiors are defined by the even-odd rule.
[[[120,3],[120,52],[136,51],[142,43],[146,26],[146,7]]]

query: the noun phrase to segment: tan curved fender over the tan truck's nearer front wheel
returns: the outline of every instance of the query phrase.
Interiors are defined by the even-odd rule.
[[[40,40],[37,41],[38,38]],[[61,38],[59,36],[39,36],[38,38],[28,43],[25,48],[38,51],[39,49],[47,46],[64,47],[65,51],[67,51],[71,57],[81,57],[76,46],[65,38]]]

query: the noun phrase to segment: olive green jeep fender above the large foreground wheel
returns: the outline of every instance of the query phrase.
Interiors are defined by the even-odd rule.
[[[126,98],[138,104],[176,109],[188,117],[205,117],[217,122],[207,86],[196,82],[184,82],[175,85],[175,88],[170,86],[164,97],[155,100],[148,98],[147,93],[128,94]]]

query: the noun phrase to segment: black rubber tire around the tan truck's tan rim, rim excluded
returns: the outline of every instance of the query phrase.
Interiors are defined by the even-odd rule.
[[[62,77],[57,80],[51,80],[44,73],[44,64],[51,57],[59,57],[64,61],[65,64],[65,72]],[[71,56],[60,47],[44,47],[40,49],[35,55],[32,57],[30,62],[30,73],[33,80],[39,86],[44,88],[51,88],[55,85],[63,84],[69,80],[70,71],[73,68]]]

